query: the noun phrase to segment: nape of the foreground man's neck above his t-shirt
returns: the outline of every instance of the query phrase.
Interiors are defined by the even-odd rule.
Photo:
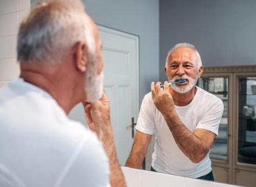
[[[29,82],[49,93],[66,114],[68,114],[79,102],[74,101],[74,85],[70,82],[64,81],[63,79],[58,80],[57,76],[46,76],[40,71],[37,72],[36,70],[28,69],[21,71],[20,78],[24,79],[25,82]]]

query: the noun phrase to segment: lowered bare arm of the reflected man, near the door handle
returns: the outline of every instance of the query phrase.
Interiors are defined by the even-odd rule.
[[[126,161],[125,166],[139,169],[148,150],[152,135],[136,131],[131,153]]]

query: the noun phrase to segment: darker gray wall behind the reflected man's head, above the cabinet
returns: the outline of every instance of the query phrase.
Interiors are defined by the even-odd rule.
[[[203,66],[256,65],[255,0],[159,0],[159,78],[168,50],[196,46]]]

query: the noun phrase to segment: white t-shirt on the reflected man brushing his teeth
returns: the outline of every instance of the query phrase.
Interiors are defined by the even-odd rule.
[[[189,131],[203,128],[218,134],[223,113],[223,102],[215,95],[196,87],[193,100],[187,106],[175,106],[178,117]],[[201,162],[194,164],[175,143],[174,137],[161,112],[153,104],[152,95],[145,95],[140,107],[136,129],[146,134],[156,134],[152,167],[158,172],[198,178],[212,171],[209,152]]]

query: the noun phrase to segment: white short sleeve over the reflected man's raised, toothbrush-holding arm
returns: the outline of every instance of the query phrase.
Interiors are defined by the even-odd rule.
[[[219,98],[210,102],[206,111],[203,114],[202,119],[196,125],[196,128],[203,128],[208,131],[212,131],[218,136],[219,124],[223,114],[223,102]]]

